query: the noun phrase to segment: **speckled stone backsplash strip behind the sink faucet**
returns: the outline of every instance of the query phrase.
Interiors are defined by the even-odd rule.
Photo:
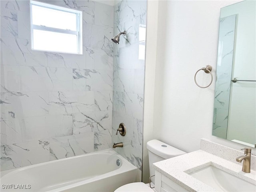
[[[242,165],[242,163],[236,162],[236,157],[244,155],[243,150],[230,148],[204,138],[200,140],[200,150],[216,155],[233,163]],[[256,155],[253,153],[251,155],[251,170],[256,171]]]

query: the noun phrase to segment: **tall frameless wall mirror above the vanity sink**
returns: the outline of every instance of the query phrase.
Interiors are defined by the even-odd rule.
[[[221,8],[212,135],[256,147],[256,1]]]

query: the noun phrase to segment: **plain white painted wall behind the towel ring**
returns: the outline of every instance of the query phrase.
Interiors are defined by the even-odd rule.
[[[215,76],[220,8],[235,2],[159,1],[154,138],[186,152],[198,150],[200,138],[242,147],[212,136],[215,79],[205,89],[194,82],[206,65]],[[205,86],[210,75],[199,72],[197,80]]]

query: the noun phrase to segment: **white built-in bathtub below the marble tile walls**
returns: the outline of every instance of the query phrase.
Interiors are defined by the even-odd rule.
[[[116,164],[118,159],[120,166]],[[137,182],[137,176],[138,168],[107,149],[17,168],[2,176],[0,183],[1,191],[8,192],[113,192],[124,184]]]

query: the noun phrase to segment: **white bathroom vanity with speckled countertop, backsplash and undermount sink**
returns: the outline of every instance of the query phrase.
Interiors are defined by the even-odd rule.
[[[153,164],[155,190],[174,191],[256,191],[256,156],[251,158],[251,172],[242,172],[236,157],[243,154],[202,139],[200,150]]]

